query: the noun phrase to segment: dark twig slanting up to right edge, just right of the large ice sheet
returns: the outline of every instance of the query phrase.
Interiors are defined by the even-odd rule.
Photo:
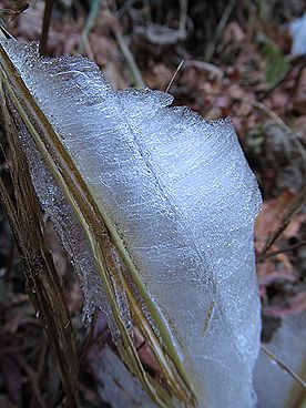
[[[259,262],[263,261],[265,253],[268,251],[268,248],[271,248],[271,246],[275,243],[275,241],[280,236],[280,234],[289,225],[290,221],[293,220],[295,214],[300,210],[305,201],[306,201],[306,185],[302,188],[298,196],[294,200],[294,202],[287,208],[278,227],[268,237],[264,248],[262,249],[258,256]]]

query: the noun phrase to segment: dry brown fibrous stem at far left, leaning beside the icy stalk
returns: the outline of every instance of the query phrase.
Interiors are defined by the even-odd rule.
[[[1,89],[1,122],[10,150],[12,188],[0,177],[0,197],[8,214],[24,268],[30,300],[43,322],[67,396],[76,407],[78,356],[64,290],[44,235],[43,222],[16,123]],[[16,112],[14,112],[16,114]],[[13,195],[9,191],[13,191]]]

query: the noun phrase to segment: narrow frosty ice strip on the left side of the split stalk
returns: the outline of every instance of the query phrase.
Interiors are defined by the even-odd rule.
[[[96,273],[94,258],[90,252],[90,245],[85,239],[84,232],[35,149],[27,128],[21,122],[18,125],[41,207],[52,220],[62,246],[73,263],[73,268],[80,275],[85,300],[84,315],[86,318],[91,318],[95,308],[102,309],[108,318],[113,336],[118,337],[118,330],[108,305],[101,276]],[[126,315],[126,322],[129,319],[130,316]]]

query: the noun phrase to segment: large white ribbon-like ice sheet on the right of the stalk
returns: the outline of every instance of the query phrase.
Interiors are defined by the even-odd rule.
[[[115,91],[81,57],[1,44],[120,232],[198,406],[254,406],[261,196],[231,121],[169,108],[163,92]]]

